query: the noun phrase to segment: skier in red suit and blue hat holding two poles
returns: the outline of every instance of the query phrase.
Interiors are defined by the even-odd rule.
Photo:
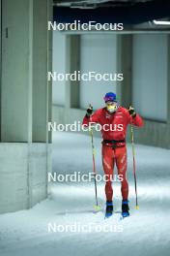
[[[128,124],[143,126],[143,120],[132,107],[126,109],[120,106],[116,100],[116,94],[108,92],[104,96],[105,107],[93,113],[93,108],[87,109],[83,118],[83,125],[99,123],[102,135],[102,166],[104,174],[108,176],[105,183],[106,210],[105,216],[109,217],[113,213],[113,189],[112,176],[114,165],[118,169],[118,175],[122,176],[122,215],[129,215],[128,208],[128,181],[127,181],[127,146],[126,134]],[[107,126],[106,126],[107,125]],[[108,126],[109,125],[109,126]],[[107,127],[107,129],[104,129]],[[108,127],[111,127],[111,129]]]

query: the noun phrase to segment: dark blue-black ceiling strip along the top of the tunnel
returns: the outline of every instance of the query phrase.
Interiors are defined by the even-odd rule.
[[[53,3],[53,18],[57,22],[74,19],[87,22],[93,17],[100,23],[136,25],[170,18],[170,0],[53,0]],[[150,29],[151,24],[147,26]]]

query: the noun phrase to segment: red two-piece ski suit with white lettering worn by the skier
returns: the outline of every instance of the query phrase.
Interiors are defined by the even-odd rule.
[[[99,123],[101,125],[102,135],[102,166],[106,176],[113,176],[114,165],[116,163],[118,175],[122,177],[122,197],[128,200],[128,181],[127,181],[127,146],[126,134],[128,124],[135,126],[143,126],[142,118],[136,114],[132,117],[128,110],[120,107],[117,112],[109,113],[106,108],[99,109],[94,112],[91,117],[84,116],[83,124],[89,125],[89,122]],[[109,128],[111,125],[111,129]],[[104,129],[106,127],[106,129]],[[116,142],[116,146],[112,146],[110,141]],[[106,200],[112,201],[113,189],[111,178],[105,184]]]

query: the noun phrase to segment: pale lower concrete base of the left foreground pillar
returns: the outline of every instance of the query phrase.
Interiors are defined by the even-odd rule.
[[[46,198],[46,155],[46,144],[0,144],[0,213],[31,208]]]

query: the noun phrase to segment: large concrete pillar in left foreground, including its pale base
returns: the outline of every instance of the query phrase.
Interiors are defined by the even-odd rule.
[[[51,18],[51,0],[2,0],[0,212],[31,208],[47,196]]]

